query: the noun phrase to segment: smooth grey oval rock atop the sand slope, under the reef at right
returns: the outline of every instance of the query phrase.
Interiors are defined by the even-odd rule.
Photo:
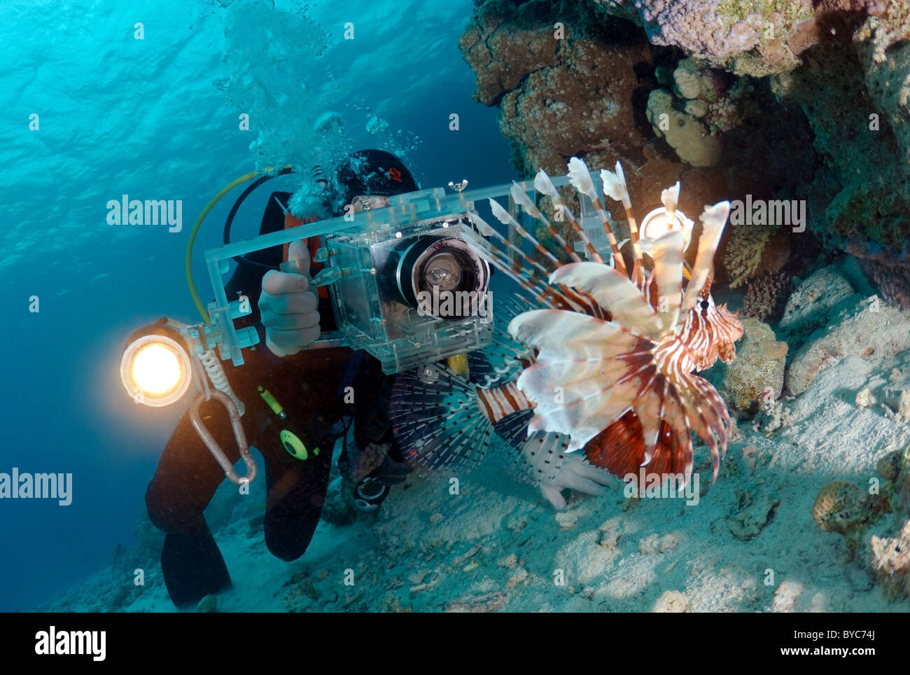
[[[816,328],[827,326],[834,307],[846,307],[845,301],[858,299],[836,267],[823,267],[795,288],[778,327],[788,335],[809,335]]]

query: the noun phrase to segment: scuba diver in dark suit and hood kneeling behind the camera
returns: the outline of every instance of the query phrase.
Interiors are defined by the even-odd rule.
[[[380,150],[354,153],[339,167],[337,177],[340,194],[334,201],[327,198],[327,207],[339,202],[355,208],[384,206],[389,196],[419,189],[408,168]],[[240,202],[259,184],[249,186],[238,199],[226,234]],[[331,192],[329,181],[322,179],[322,184]],[[260,235],[305,222],[289,215],[285,207],[289,198],[287,192],[269,197]],[[336,208],[333,215],[341,213]],[[250,350],[246,368],[226,363],[225,371],[238,397],[247,401],[244,428],[249,444],[264,459],[266,544],[273,555],[288,561],[303,555],[312,539],[329,483],[332,450],[336,440],[347,439],[350,424],[358,448],[389,447],[379,468],[357,486],[359,509],[378,508],[389,486],[403,481],[410,471],[392,442],[390,378],[383,375],[379,361],[346,347],[304,349],[320,332],[336,329],[325,289],[309,286],[309,275],[319,267],[310,264],[310,251],[319,247],[318,237],[314,239],[239,258],[226,287],[228,296],[240,292],[258,296],[258,307],[238,321],[238,327],[255,326],[260,346]],[[278,271],[285,256],[296,264],[297,274]],[[354,392],[354,403],[346,402],[349,391]],[[200,417],[218,445],[226,448],[227,458],[236,462],[239,452],[224,408],[206,401]],[[350,420],[348,425],[344,420]],[[346,446],[339,465],[347,461]],[[146,493],[149,518],[165,532],[161,569],[178,608],[230,586],[227,565],[203,516],[224,479],[187,411],[167,441]]]

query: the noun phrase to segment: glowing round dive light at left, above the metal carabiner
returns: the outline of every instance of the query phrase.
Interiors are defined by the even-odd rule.
[[[124,349],[120,379],[137,403],[152,408],[169,406],[187,393],[192,381],[187,348],[179,334],[167,327],[153,325],[138,333],[145,331]]]

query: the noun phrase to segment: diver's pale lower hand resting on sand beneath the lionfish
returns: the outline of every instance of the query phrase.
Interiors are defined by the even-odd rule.
[[[563,440],[561,435],[539,432],[521,447],[541,493],[557,510],[566,507],[562,490],[575,489],[599,497],[606,493],[611,481],[609,473],[588,464],[581,453],[564,454]]]

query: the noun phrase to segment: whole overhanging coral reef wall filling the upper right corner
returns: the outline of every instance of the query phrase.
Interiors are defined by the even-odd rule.
[[[806,199],[807,232],[729,228],[718,280],[743,286],[783,264],[764,267],[766,245],[820,237],[910,308],[908,0],[477,5],[462,51],[478,99],[501,106],[522,175],[579,155],[594,168],[622,160],[633,198],[642,180],[653,190],[682,178],[717,198]]]

